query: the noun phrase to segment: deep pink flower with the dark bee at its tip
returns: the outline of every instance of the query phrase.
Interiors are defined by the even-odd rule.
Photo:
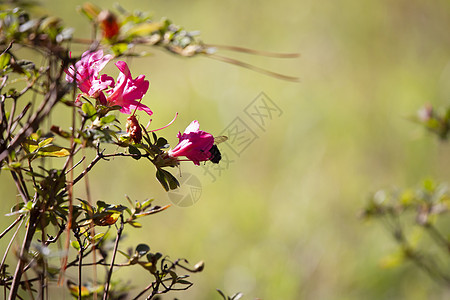
[[[214,137],[205,131],[199,130],[200,124],[194,120],[186,128],[183,134],[178,133],[180,140],[175,148],[169,150],[171,157],[185,156],[197,166],[201,161],[211,158],[211,148],[214,145]]]

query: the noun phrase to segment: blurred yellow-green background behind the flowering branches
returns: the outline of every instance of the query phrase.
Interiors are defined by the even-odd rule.
[[[42,11],[62,17],[76,28],[76,36],[89,37],[86,19],[75,10],[81,3],[43,1]],[[110,1],[96,4],[112,8]],[[298,76],[300,83],[160,50],[128,61],[134,77],[144,74],[150,80],[143,101],[154,111],[152,126],[180,113],[160,133],[172,144],[194,119],[202,129],[220,134],[236,117],[244,119],[244,109],[261,92],[283,111],[265,131],[253,125],[259,138],[216,182],[202,168],[181,165],[182,173],[202,183],[198,202],[174,205],[144,220],[143,229],[128,230],[124,249],[147,243],[171,258],[205,261],[189,291],[164,299],[219,299],[216,288],[243,292],[243,299],[450,297],[411,264],[381,269],[380,259],[396,245],[380,224],[358,218],[369,195],[380,188],[415,187],[428,177],[450,180],[448,146],[408,120],[424,103],[448,104],[449,1],[120,4],[198,29],[206,43],[301,53],[297,59],[277,59],[223,52]],[[89,173],[93,199],[120,203],[127,194],[170,203],[154,174],[144,161],[100,163]],[[0,178],[6,213],[15,190],[7,174]],[[2,218],[2,228],[11,220]],[[131,269],[115,271],[114,278],[136,287],[149,279]]]

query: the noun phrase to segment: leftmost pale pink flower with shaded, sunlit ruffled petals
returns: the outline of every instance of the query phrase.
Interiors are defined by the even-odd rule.
[[[112,55],[103,56],[103,50],[86,51],[81,59],[66,70],[66,80],[77,82],[78,88],[94,98],[102,98],[101,91],[114,86],[114,79],[107,75],[99,77],[99,72],[112,59]],[[75,75],[76,72],[76,75]],[[104,97],[104,96],[103,96]]]

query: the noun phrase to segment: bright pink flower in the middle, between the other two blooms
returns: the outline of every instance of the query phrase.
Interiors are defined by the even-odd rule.
[[[144,75],[139,75],[136,79],[131,77],[130,69],[124,61],[118,61],[116,66],[120,70],[120,75],[117,78],[117,84],[111,91],[107,91],[106,105],[120,105],[121,113],[131,114],[135,109],[143,110],[148,115],[153,112],[137,100],[142,99],[147,92],[149,82],[145,80]]]

